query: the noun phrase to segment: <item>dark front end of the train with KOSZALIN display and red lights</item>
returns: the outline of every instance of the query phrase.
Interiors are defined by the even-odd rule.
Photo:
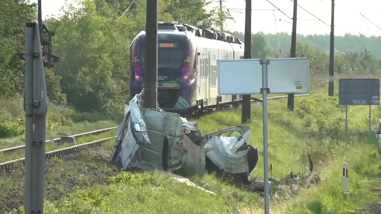
[[[131,44],[130,99],[139,94],[146,77],[146,35]],[[185,32],[158,32],[157,101],[168,112],[185,113],[196,105],[195,46]]]

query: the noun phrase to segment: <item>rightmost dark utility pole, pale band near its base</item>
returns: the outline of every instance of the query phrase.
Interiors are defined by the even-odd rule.
[[[335,34],[334,34],[334,23],[335,23],[335,0],[332,0],[332,11],[331,11],[331,39],[330,39],[330,72],[328,78],[328,96],[335,96],[334,88],[334,69],[335,69]]]

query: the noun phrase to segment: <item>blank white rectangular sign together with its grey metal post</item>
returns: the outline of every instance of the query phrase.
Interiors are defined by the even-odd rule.
[[[309,59],[306,57],[267,59],[264,56],[262,59],[218,61],[219,94],[263,94],[265,214],[270,211],[267,94],[309,93],[309,88]]]

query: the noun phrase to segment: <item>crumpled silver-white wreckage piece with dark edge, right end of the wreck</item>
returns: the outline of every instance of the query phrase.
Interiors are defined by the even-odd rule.
[[[233,132],[238,132],[239,137],[230,137]],[[227,137],[222,136],[229,133]],[[258,162],[258,149],[256,153],[250,152],[250,165],[248,160],[248,152],[253,147],[249,147],[250,143],[250,127],[234,126],[224,129],[204,137],[205,156],[215,164],[219,169],[232,174],[250,173]],[[256,157],[255,157],[256,156]],[[254,164],[254,167],[252,166]],[[208,168],[208,166],[207,166]],[[211,166],[210,168],[213,168]],[[251,170],[250,170],[251,169]]]

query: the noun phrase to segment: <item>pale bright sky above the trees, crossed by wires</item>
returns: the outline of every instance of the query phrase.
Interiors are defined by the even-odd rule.
[[[69,0],[70,1],[70,0]],[[138,0],[139,1],[139,0]],[[219,6],[219,0],[213,0],[208,10]],[[245,0],[222,0],[223,6],[230,9],[245,9]],[[293,16],[293,2],[291,0],[269,0],[288,17]],[[267,0],[252,0],[251,32],[259,31],[276,34],[286,32],[291,34],[292,20],[275,8]],[[37,0],[30,0],[37,3]],[[59,15],[65,0],[42,0],[42,16]],[[331,25],[331,0],[298,0],[298,5],[314,14],[321,21],[303,10],[297,8],[298,21],[296,32],[303,35],[329,34]],[[381,1],[380,0],[336,0],[335,1],[335,36],[343,36],[346,33],[352,35],[361,34],[370,36],[381,36]],[[255,9],[269,9],[275,11],[263,11]],[[226,29],[232,31],[245,31],[245,10],[229,10],[234,21],[230,21]],[[275,13],[275,17],[274,17]],[[363,15],[361,15],[361,14]],[[375,23],[377,26],[372,24]],[[277,20],[275,21],[274,18]],[[279,20],[281,19],[281,20]],[[307,20],[306,20],[307,19]],[[314,19],[313,21],[308,21]],[[326,24],[324,24],[325,22]]]

